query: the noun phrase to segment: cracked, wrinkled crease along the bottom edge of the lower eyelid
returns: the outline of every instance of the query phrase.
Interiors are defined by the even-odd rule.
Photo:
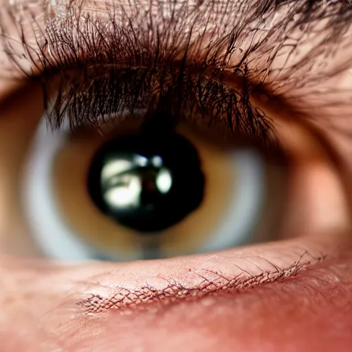
[[[105,287],[109,294],[88,294],[85,298],[80,298],[76,305],[82,309],[83,314],[100,314],[111,309],[135,309],[136,307],[147,307],[153,303],[168,305],[179,300],[196,300],[219,292],[243,292],[259,285],[296,276],[307,267],[319,263],[327,257],[321,255],[316,258],[309,256],[309,260],[303,259],[307,255],[309,256],[307,252],[304,252],[298,261],[283,268],[268,262],[274,267],[274,270],[263,270],[259,274],[250,274],[238,265],[235,266],[238,268],[239,274],[231,277],[208,269],[201,270],[201,273],[197,270],[188,269],[188,276],[192,276],[188,280],[191,285],[177,283],[175,279],[170,280],[159,275],[156,280],[166,282],[166,285],[163,285],[162,288],[158,287],[159,283],[155,282],[155,285],[153,285],[153,280],[151,280],[152,284],[140,285],[137,288],[131,288],[128,284],[118,287],[109,285],[109,287]],[[249,258],[241,259],[248,261],[250,265],[257,266]],[[96,285],[100,288],[104,287],[101,283]]]

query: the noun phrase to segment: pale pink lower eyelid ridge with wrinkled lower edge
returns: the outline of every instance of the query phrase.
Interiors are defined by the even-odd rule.
[[[307,238],[162,261],[91,264],[87,268],[95,274],[83,281],[76,305],[82,312],[98,314],[197,299],[216,292],[242,292],[296,276],[336,256],[335,246],[335,240],[322,236],[320,242]]]

